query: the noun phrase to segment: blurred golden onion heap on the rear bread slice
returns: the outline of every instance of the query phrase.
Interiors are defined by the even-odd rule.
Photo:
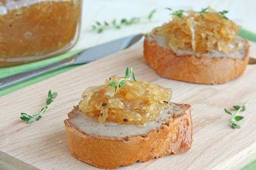
[[[239,29],[233,21],[208,8],[207,13],[187,11],[182,17],[173,15],[172,21],[155,28],[151,34],[166,36],[173,50],[229,53],[241,48],[236,40]]]

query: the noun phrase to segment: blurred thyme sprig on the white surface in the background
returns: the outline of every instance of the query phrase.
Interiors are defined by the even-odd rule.
[[[152,20],[154,14],[156,13],[156,9],[153,9],[150,11],[148,16],[146,17],[148,21]],[[134,25],[137,23],[140,23],[142,20],[142,17],[131,17],[130,19],[128,18],[123,18],[120,21],[113,19],[111,22],[108,21],[103,21],[99,22],[96,21],[95,24],[92,25],[92,30],[96,31],[97,33],[102,33],[105,29],[107,28],[116,28],[120,29],[122,26],[129,26],[129,25]]]

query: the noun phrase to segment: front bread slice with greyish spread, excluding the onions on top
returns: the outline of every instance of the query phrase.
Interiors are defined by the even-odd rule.
[[[145,127],[99,124],[96,117],[85,115],[75,106],[64,120],[70,152],[81,161],[105,169],[183,153],[192,144],[190,105],[169,105],[169,110]]]

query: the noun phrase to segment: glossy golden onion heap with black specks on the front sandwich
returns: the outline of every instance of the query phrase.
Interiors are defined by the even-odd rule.
[[[172,89],[144,80],[128,80],[115,93],[108,84],[121,78],[112,76],[111,80],[105,80],[105,85],[87,88],[82,94],[79,110],[89,116],[98,116],[100,123],[108,119],[117,123],[145,125],[167,109],[166,101],[171,99]]]

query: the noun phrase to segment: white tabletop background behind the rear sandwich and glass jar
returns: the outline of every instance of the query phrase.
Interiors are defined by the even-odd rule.
[[[256,33],[256,0],[82,0],[82,23],[79,42],[73,49],[87,48],[103,42],[131,34],[146,33],[171,19],[166,7],[177,9],[201,10],[211,6],[217,11],[228,10],[227,14],[243,28]],[[143,17],[157,9],[151,22],[114,28],[98,34],[91,31],[95,21],[120,20],[122,18]]]

